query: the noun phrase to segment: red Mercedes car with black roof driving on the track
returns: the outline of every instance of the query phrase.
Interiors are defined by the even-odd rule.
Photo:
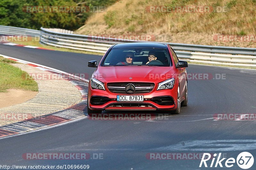
[[[108,49],[89,81],[88,115],[102,110],[168,110],[188,105],[188,63],[168,44],[134,42]]]

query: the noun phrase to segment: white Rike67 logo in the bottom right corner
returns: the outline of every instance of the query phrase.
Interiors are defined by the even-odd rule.
[[[236,157],[236,159],[235,158],[228,158],[228,159],[227,158],[222,158],[222,159],[220,159],[221,153],[219,153],[219,155],[217,153],[214,153],[213,158],[211,158],[211,155],[212,154],[210,154],[210,153],[204,153],[199,167],[202,167],[202,165],[204,165],[204,167],[208,167],[209,164],[207,165],[206,162],[210,159],[212,160],[210,167],[223,167],[222,164],[224,164],[226,167],[230,168],[230,167],[234,166],[235,163],[237,163],[237,165],[240,168],[249,169],[250,167],[252,167],[253,162],[254,162],[253,156],[249,152],[241,152]],[[217,155],[218,155],[218,158],[217,158]],[[216,158],[217,158],[217,160],[215,162]],[[225,159],[227,159],[227,160],[224,161]],[[214,165],[214,163],[215,163],[215,165]]]

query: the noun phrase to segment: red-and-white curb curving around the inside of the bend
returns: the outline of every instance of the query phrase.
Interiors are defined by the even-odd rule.
[[[69,80],[70,83],[76,86],[80,93],[82,94],[82,100],[74,106],[71,106],[67,109],[57,111],[51,114],[38,116],[31,119],[26,119],[20,122],[15,122],[7,125],[0,126],[0,139],[16,136],[24,132],[29,132],[37,129],[46,128],[49,126],[57,125],[60,123],[65,123],[73,121],[78,118],[87,117],[87,92],[88,92],[88,82],[89,80],[84,78],[79,78],[77,76],[72,76],[66,72],[56,70],[47,66],[43,66],[36,63],[31,63],[28,61],[20,60],[17,58],[9,57],[6,55],[0,55],[4,58],[8,58],[19,63],[28,64],[33,67],[38,67],[41,69],[46,69],[54,73],[62,73],[73,79]],[[79,79],[78,79],[79,78]]]

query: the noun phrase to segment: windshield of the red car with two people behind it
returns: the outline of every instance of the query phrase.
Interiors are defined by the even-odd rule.
[[[170,66],[166,49],[116,48],[105,57],[101,66]]]

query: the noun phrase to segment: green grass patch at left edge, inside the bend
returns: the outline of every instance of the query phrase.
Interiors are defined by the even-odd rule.
[[[12,66],[15,61],[0,56],[0,92],[7,92],[8,89],[21,89],[38,91],[35,80],[27,72]]]

